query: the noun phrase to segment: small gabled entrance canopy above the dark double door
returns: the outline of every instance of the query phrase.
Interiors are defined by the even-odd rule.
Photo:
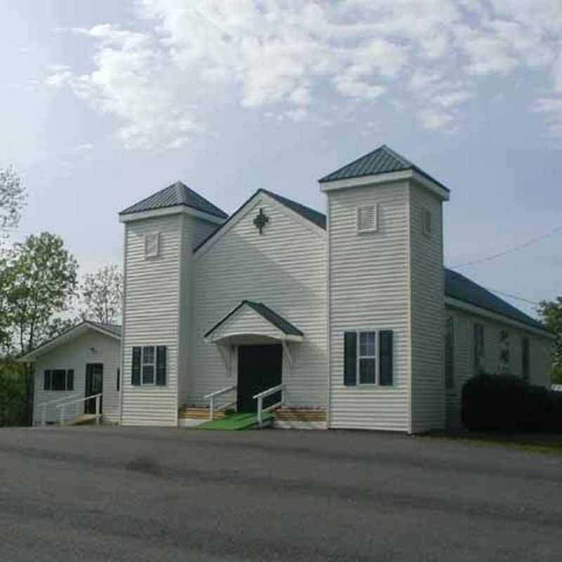
[[[266,344],[303,341],[304,334],[263,303],[242,301],[221,318],[204,340],[211,344]]]

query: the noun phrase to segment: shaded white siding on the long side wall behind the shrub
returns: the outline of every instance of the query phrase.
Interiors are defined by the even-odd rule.
[[[499,332],[505,329],[509,333],[510,374],[516,377],[522,376],[521,340],[523,336],[527,336],[530,340],[530,384],[538,384],[545,388],[550,386],[551,341],[549,339],[449,306],[446,314],[452,316],[455,326],[455,386],[446,391],[447,426],[455,428],[461,424],[462,386],[476,373],[473,348],[475,323],[484,326],[486,373],[495,374],[499,370]]]

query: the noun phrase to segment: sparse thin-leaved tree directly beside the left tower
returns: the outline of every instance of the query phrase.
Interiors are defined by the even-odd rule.
[[[123,274],[117,266],[105,266],[84,276],[80,287],[81,301],[86,307],[82,317],[112,324],[122,312]]]

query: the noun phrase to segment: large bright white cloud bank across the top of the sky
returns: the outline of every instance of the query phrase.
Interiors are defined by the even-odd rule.
[[[555,62],[559,0],[138,0],[136,6],[135,30],[110,23],[72,30],[93,42],[91,70],[60,65],[45,80],[70,86],[115,119],[128,148],[183,146],[204,130],[208,112],[232,100],[300,122],[311,108],[318,112],[329,86],[344,102],[388,96],[417,112],[426,129],[454,128],[458,106],[490,76],[542,72],[562,91],[562,59]],[[551,119],[558,110],[541,111]]]

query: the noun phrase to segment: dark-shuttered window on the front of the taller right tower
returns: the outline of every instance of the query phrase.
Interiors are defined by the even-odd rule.
[[[344,333],[344,384],[393,384],[393,332],[375,330]]]

